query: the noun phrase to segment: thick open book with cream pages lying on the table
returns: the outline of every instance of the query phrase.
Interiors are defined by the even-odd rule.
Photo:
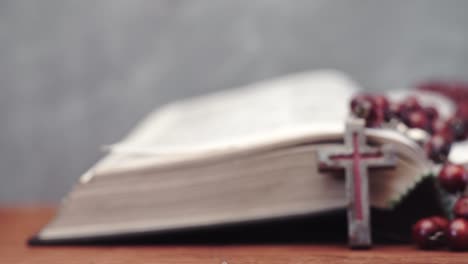
[[[36,242],[157,234],[346,206],[344,175],[317,149],[343,144],[357,85],[323,70],[169,104],[150,114],[81,178]],[[395,95],[397,96],[397,95]],[[444,105],[444,103],[443,103]],[[446,110],[450,111],[450,110]],[[443,111],[442,111],[443,112]],[[394,168],[370,170],[371,205],[391,209],[427,175],[423,150],[393,130]]]

